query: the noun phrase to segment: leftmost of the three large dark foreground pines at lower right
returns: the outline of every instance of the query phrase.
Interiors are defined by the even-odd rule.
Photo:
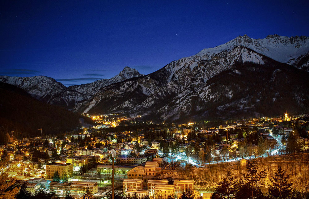
[[[237,184],[238,180],[231,174],[231,170],[228,170],[226,176],[217,184],[212,197],[218,199],[235,199]]]

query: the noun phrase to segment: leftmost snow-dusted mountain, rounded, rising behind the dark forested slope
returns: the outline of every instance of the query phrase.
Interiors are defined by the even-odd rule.
[[[65,108],[73,108],[78,102],[89,98],[89,96],[70,90],[55,79],[45,76],[0,76],[0,81],[22,88],[40,101]]]

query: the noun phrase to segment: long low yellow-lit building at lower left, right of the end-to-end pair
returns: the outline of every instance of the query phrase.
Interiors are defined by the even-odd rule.
[[[72,181],[71,183],[71,194],[84,195],[87,192],[87,189],[91,194],[98,192],[98,184],[96,182],[82,182],[82,181]]]

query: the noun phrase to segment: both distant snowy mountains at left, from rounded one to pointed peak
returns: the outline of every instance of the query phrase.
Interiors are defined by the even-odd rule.
[[[46,76],[0,76],[0,82],[22,88],[39,101],[72,109],[76,104],[91,98],[101,87],[142,75],[143,74],[140,74],[135,69],[125,67],[119,74],[111,79],[100,79],[89,84],[70,87],[66,87],[55,79]]]

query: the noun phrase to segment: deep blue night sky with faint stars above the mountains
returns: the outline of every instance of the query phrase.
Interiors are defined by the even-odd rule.
[[[239,35],[309,36],[308,1],[1,1],[0,75],[149,74]],[[83,78],[83,79],[79,79]]]

